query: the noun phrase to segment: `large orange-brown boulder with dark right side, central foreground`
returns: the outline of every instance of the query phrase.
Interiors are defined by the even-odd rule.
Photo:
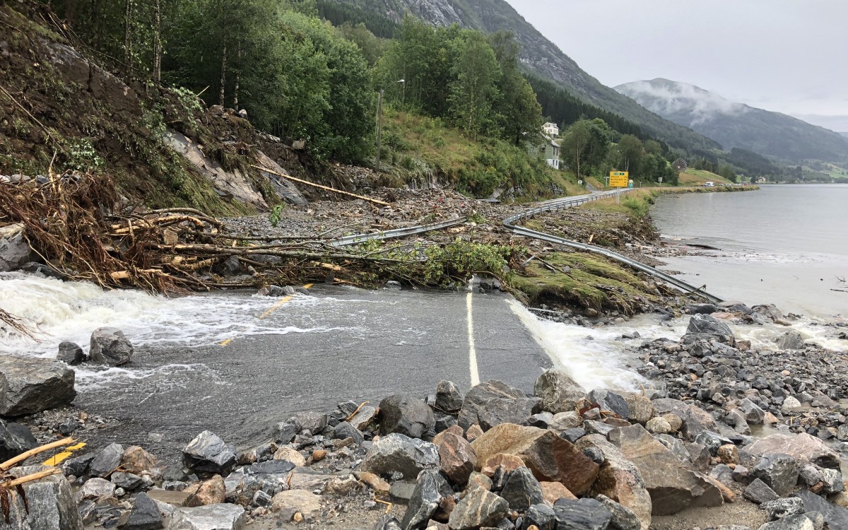
[[[477,466],[504,453],[516,455],[540,481],[563,483],[573,494],[582,495],[598,477],[598,465],[574,445],[552,431],[502,423],[474,440]]]

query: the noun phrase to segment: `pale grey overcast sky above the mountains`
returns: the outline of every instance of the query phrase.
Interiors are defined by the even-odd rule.
[[[665,77],[848,131],[848,1],[507,2],[607,86]]]

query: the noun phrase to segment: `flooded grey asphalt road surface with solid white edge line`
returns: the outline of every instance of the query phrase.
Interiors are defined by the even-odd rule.
[[[400,392],[423,397],[442,379],[463,389],[500,379],[531,392],[551,365],[502,293],[324,286],[313,293],[295,303],[269,298],[257,318],[279,333],[137,351],[137,377],[105,380],[77,396],[83,410],[118,420],[87,436],[89,443],[176,456],[209,429],[246,448],[293,412],[329,411],[349,399],[376,404]]]

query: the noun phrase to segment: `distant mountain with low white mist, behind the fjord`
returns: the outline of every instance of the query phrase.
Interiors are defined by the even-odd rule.
[[[678,81],[633,81],[616,90],[662,117],[700,132],[723,148],[743,148],[789,162],[848,159],[848,141],[786,114],[734,103]]]

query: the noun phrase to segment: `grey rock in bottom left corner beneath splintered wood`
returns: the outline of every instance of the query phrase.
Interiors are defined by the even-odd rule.
[[[13,477],[20,478],[38,471],[44,466],[23,466],[9,470]],[[70,483],[64,475],[52,475],[25,483],[23,495],[8,495],[3,502],[6,519],[0,519],[0,527],[20,528],[21,530],[82,530],[82,519],[76,500],[70,491]],[[7,526],[3,526],[8,522]]]

